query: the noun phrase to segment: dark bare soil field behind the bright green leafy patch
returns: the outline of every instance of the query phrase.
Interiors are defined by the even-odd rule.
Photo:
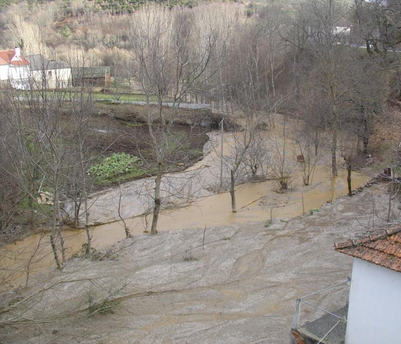
[[[165,116],[168,116],[169,111],[168,108],[163,110]],[[182,170],[202,157],[203,146],[208,140],[208,128],[191,125],[191,121],[196,122],[203,112],[181,111],[171,128],[171,137],[167,137],[171,147],[171,152],[167,152],[171,165],[167,167],[172,171]],[[156,158],[146,124],[145,106],[95,104],[94,112],[88,138],[88,145],[95,150],[94,162],[111,153],[124,152],[140,157],[144,168],[154,166]],[[155,131],[157,133],[157,129]],[[96,188],[99,189],[95,185]]]

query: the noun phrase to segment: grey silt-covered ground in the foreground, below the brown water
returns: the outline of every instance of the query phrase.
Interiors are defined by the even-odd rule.
[[[204,248],[204,232],[190,228],[123,240],[101,261],[74,259],[8,293],[4,304],[17,306],[2,321],[27,310],[27,324],[3,327],[0,341],[287,343],[296,298],[351,276],[351,257],[333,244],[383,223],[387,200],[386,186],[374,185],[289,222],[208,227]],[[15,303],[41,281],[51,289]],[[334,310],[345,293],[313,302]],[[305,307],[301,322],[316,315]]]

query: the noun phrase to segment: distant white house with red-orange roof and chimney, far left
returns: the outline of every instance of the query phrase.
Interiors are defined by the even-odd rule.
[[[29,78],[29,62],[18,47],[0,51],[0,83],[6,81],[15,89],[26,90],[30,88]]]

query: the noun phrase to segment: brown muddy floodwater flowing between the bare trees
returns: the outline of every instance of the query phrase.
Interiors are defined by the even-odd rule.
[[[226,141],[229,140],[227,135],[225,138]],[[289,147],[295,151],[294,145],[289,145]],[[212,150],[202,161],[189,169],[202,168],[205,165],[211,166],[211,160],[215,155],[215,151]],[[295,156],[296,154],[289,154],[294,161]],[[296,165],[297,162],[295,161],[294,164]],[[207,168],[204,169],[207,170]],[[309,213],[311,210],[318,211],[328,200],[347,194],[347,171],[339,169],[338,176],[334,179],[330,177],[330,173],[328,160],[322,159],[314,171],[311,185],[308,186],[302,184],[302,172],[299,167],[294,169],[293,189],[284,193],[278,192],[278,185],[273,180],[241,184],[236,188],[236,213],[231,211],[230,193],[201,192],[195,202],[189,206],[165,211],[159,218],[157,229],[158,231],[174,231],[185,228],[203,230],[205,226],[216,227],[256,221],[266,221],[268,226],[270,220],[273,222],[287,221],[300,214]],[[204,176],[205,180],[212,178],[216,178],[215,171],[206,173]],[[353,188],[362,186],[367,180],[368,177],[361,173],[352,173]],[[99,202],[101,202],[101,197]],[[104,198],[104,202],[106,202],[106,198]],[[127,199],[126,202],[132,205],[135,199]],[[110,204],[110,209],[112,207],[115,207],[115,204]],[[124,217],[127,218],[126,223],[131,234],[142,234],[145,229],[145,218],[137,215],[140,214],[140,203],[127,207],[127,209],[131,211],[125,213]],[[101,208],[97,212],[101,213]],[[96,214],[96,211],[93,211],[92,214]],[[81,249],[86,240],[86,234],[81,230],[66,230],[64,233],[66,247],[68,247],[67,254],[70,257]],[[125,238],[121,221],[95,225],[91,228],[91,233],[95,249],[105,248]],[[28,270],[32,276],[34,273],[54,265],[48,233],[32,235],[5,246],[0,257],[2,268],[0,283],[3,290],[23,284]]]

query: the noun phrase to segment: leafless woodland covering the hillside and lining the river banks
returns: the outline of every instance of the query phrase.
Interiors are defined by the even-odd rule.
[[[233,154],[224,161],[230,178],[220,182],[220,189],[230,190],[233,212],[237,183],[266,176],[266,164],[280,188],[289,189],[292,171],[278,140],[277,154],[269,155],[260,138],[262,129],[275,125],[277,112],[302,121],[298,141],[305,156],[305,185],[322,146],[331,151],[332,176],[342,163],[338,151],[351,176],[358,157],[371,152],[375,126],[399,116],[397,0],[175,5],[21,2],[4,7],[0,15],[4,49],[19,45],[24,54],[41,53],[75,67],[110,66],[113,92],[135,88],[144,96],[146,110],[136,120],[147,130],[146,149],[107,161],[121,165],[118,174],[136,176],[141,169],[154,177],[149,190],[152,234],[167,198],[165,172],[193,153],[192,148],[181,154],[188,136],[175,132],[183,122],[179,104],[193,97],[209,99],[217,126],[223,117],[232,120],[225,127],[235,138]],[[351,30],[346,34],[336,27]],[[89,254],[88,199],[102,169],[99,155],[112,156],[91,136],[99,110],[91,96],[95,90],[81,83],[68,90],[68,97],[62,89],[48,91],[45,84],[39,92],[2,91],[0,231],[12,240],[35,231],[40,221],[51,230],[55,262],[62,269],[64,214],[69,213],[70,225],[80,222],[87,229]],[[162,105],[166,100],[173,103],[169,111]],[[194,128],[202,122],[191,120]],[[51,195],[52,205],[38,203],[40,189]],[[169,192],[178,195],[182,189],[173,185]]]

